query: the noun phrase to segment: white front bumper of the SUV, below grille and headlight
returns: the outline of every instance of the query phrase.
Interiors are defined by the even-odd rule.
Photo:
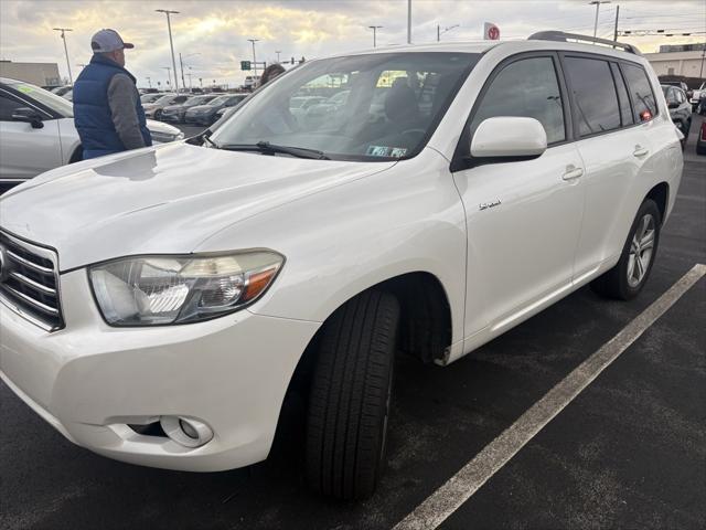
[[[69,441],[145,466],[215,471],[267,457],[281,403],[318,322],[242,310],[214,320],[111,328],[85,271],[62,275],[66,327],[47,333],[0,303],[0,377]],[[160,415],[207,423],[188,448],[136,433]]]

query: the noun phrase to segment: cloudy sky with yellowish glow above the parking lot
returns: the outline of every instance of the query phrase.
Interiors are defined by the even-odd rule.
[[[486,21],[498,24],[502,39],[526,39],[542,30],[592,34],[596,15],[588,0],[411,0],[411,6],[414,43],[436,41],[437,25],[442,32],[450,28],[442,41],[481,39]],[[613,0],[600,7],[598,36],[612,38],[617,6],[621,31],[700,32],[620,39],[643,53],[660,44],[706,41],[705,0]],[[172,15],[174,52],[178,66],[181,52],[185,83],[191,73],[193,86],[199,78],[204,86],[240,84],[246,73],[239,62],[253,59],[247,39],[259,40],[257,61],[268,64],[277,51],[289,61],[370,49],[370,25],[383,26],[378,46],[407,40],[407,0],[0,0],[0,59],[55,62],[66,77],[63,43],[53,28],[72,28],[66,43],[75,77],[90,60],[90,35],[113,28],[136,45],[126,56],[138,85],[164,87],[172,62],[165,15],[156,9],[180,11]]]

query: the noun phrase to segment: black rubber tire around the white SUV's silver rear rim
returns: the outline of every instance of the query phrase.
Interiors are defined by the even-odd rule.
[[[628,279],[628,267],[630,263],[630,251],[632,240],[635,236],[635,233],[641,227],[641,223],[645,215],[651,215],[654,226],[654,244],[652,246],[652,254],[650,256],[650,262],[644,268],[645,273],[637,285],[630,285]],[[630,227],[630,233],[628,234],[628,239],[625,240],[625,244],[622,248],[622,254],[620,255],[620,261],[618,264],[605,273],[602,276],[596,278],[591,283],[591,288],[601,296],[607,298],[614,298],[619,300],[630,300],[638,296],[638,294],[644,287],[644,284],[648,282],[650,277],[650,272],[652,271],[652,265],[654,264],[654,257],[657,253],[657,247],[660,244],[660,230],[662,227],[662,215],[660,214],[660,209],[656,203],[652,199],[645,199],[645,201],[638,210],[638,214],[635,215],[634,221],[632,222],[632,226]]]

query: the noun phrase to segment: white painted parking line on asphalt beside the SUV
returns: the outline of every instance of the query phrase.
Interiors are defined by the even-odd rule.
[[[586,359],[486,445],[475,458],[398,522],[394,530],[431,530],[441,524],[705,274],[706,265],[695,265],[664,295]]]

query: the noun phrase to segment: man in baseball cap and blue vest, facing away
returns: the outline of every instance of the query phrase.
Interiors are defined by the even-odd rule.
[[[124,42],[115,30],[90,39],[93,57],[74,83],[74,123],[84,160],[151,146],[136,80],[125,68]]]

